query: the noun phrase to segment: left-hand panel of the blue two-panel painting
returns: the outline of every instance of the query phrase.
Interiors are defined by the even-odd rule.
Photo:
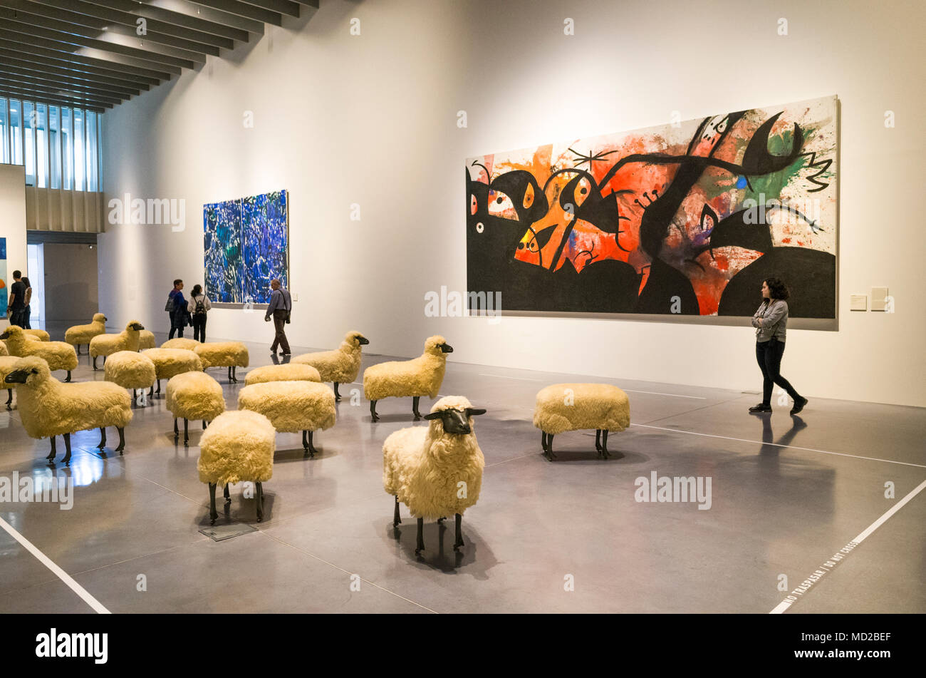
[[[241,200],[203,206],[206,296],[216,302],[244,301]]]

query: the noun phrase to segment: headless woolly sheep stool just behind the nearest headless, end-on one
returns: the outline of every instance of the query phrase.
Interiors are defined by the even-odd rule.
[[[301,431],[306,456],[315,457],[318,450],[312,444],[312,433],[334,425],[334,392],[324,383],[254,383],[244,386],[238,394],[238,409],[266,415],[282,433]]]

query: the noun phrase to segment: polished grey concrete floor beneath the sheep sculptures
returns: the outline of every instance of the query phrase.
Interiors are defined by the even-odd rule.
[[[249,348],[252,368],[270,363],[264,345]],[[113,612],[766,613],[926,479],[921,408],[811,394],[799,418],[790,406],[756,417],[746,408],[757,395],[615,380],[605,381],[631,399],[632,426],[608,442],[623,457],[597,458],[594,432],[573,432],[557,435],[551,462],[532,426],[534,395],[548,383],[602,380],[469,365],[462,348],[441,393],[488,412],[475,424],[482,496],[464,516],[459,553],[452,520],[425,525],[420,557],[404,506],[394,530],[382,441],[412,424],[411,400],[382,401],[382,421],[372,423],[358,384],[342,386],[337,424],[316,436],[316,458],[303,458],[298,434],[278,434],[263,522],[240,485],[225,515],[219,498],[218,525],[257,528],[224,541],[200,533],[209,521],[198,422],[188,448],[175,444],[159,399],[135,410],[124,456],[112,451],[112,431],[103,455],[98,433],[77,433],[70,467],[52,470],[47,440],[26,435],[14,401],[12,411],[0,407],[0,478],[57,473],[76,489],[70,510],[6,502],[0,519]],[[369,353],[364,367],[385,359]],[[209,373],[235,408],[243,378]],[[103,373],[82,357],[74,378]],[[430,407],[423,398],[422,411]],[[58,459],[61,448],[59,440]],[[710,478],[710,508],[637,501],[636,479],[653,472]],[[788,613],[926,612],[924,525],[926,491],[824,567]],[[0,612],[88,611],[74,587],[0,531]]]

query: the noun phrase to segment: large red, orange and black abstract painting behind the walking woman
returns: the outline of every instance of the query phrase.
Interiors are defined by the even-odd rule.
[[[467,287],[506,310],[834,318],[836,97],[467,160]],[[475,309],[478,295],[470,294]]]

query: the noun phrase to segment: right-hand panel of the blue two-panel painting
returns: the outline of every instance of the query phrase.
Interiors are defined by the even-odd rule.
[[[289,228],[286,191],[251,195],[241,201],[244,250],[244,298],[256,304],[270,300],[270,281],[288,286]]]

